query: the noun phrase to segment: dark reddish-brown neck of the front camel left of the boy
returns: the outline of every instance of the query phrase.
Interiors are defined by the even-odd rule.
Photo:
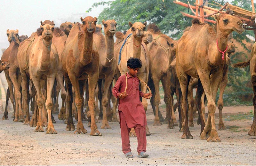
[[[84,32],[84,45],[80,62],[85,66],[92,61],[93,33]]]

